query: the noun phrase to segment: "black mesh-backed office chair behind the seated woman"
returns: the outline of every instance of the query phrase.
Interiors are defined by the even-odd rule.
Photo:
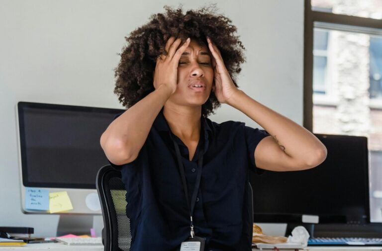
[[[121,172],[106,165],[101,167],[96,177],[96,188],[101,203],[103,226],[102,244],[104,251],[129,251],[131,246],[130,220],[126,216],[126,190],[121,179]],[[239,250],[251,251],[253,235],[253,196],[252,187],[248,182],[246,190],[247,206],[243,214],[247,214],[249,246]],[[249,248],[248,248],[249,247]]]

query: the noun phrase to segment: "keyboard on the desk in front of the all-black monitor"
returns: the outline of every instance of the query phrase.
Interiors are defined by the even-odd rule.
[[[310,238],[308,246],[382,246],[382,238]]]

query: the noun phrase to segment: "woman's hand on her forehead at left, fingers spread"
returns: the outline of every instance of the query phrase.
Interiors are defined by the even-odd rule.
[[[164,84],[171,88],[173,94],[177,89],[178,63],[182,54],[189,46],[191,39],[179,47],[182,40],[180,38],[170,37],[166,42],[165,50],[167,55],[160,55],[157,59],[157,65],[154,72],[154,88],[157,89]],[[178,49],[179,47],[179,49]]]

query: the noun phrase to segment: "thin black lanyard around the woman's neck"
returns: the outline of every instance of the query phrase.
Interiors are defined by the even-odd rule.
[[[187,181],[186,181],[186,175],[185,175],[185,167],[183,166],[181,151],[179,150],[179,146],[175,142],[174,138],[173,138],[173,142],[174,142],[175,152],[177,154],[178,167],[179,167],[179,172],[181,173],[183,189],[184,189],[185,195],[186,195],[187,206],[189,207],[190,220],[191,220],[191,238],[193,238],[194,232],[193,232],[192,213],[193,213],[193,209],[195,207],[196,195],[197,195],[197,192],[199,190],[199,185],[200,185],[201,168],[203,166],[203,148],[200,147],[199,153],[198,153],[198,155],[199,155],[199,159],[197,161],[198,170],[197,170],[197,175],[196,175],[195,187],[193,189],[193,193],[192,193],[192,197],[191,197],[191,203],[190,203],[189,191],[187,189]]]

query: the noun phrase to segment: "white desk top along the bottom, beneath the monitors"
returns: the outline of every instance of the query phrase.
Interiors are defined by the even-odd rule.
[[[103,246],[69,246],[62,243],[41,243],[26,244],[23,247],[0,247],[0,251],[5,250],[26,250],[26,251],[103,251]],[[303,251],[382,251],[382,247],[307,247]],[[253,249],[253,251],[259,251]],[[283,250],[280,250],[283,251]],[[291,251],[291,250],[287,250]]]

